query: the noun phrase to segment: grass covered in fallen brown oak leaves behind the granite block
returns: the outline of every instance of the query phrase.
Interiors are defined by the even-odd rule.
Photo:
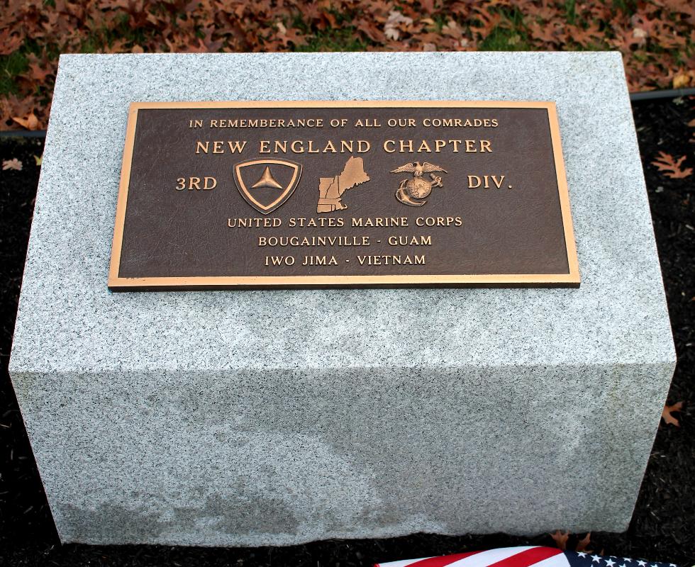
[[[693,0],[0,0],[0,130],[45,128],[63,53],[619,50],[695,86]]]

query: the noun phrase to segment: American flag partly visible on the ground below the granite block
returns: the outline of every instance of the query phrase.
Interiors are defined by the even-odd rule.
[[[502,547],[465,554],[403,559],[376,563],[374,567],[677,567],[628,557],[600,556],[583,551],[560,551],[555,547]]]

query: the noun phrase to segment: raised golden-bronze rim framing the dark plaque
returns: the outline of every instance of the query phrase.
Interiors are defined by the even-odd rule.
[[[130,167],[133,163],[138,111],[148,108],[544,108],[547,111],[555,161],[558,197],[569,272],[566,274],[460,274],[460,275],[369,275],[369,276],[186,276],[122,278],[123,229],[128,205]],[[128,109],[126,143],[118,186],[116,221],[113,228],[108,286],[112,291],[167,291],[251,288],[394,288],[394,287],[566,287],[581,283],[577,244],[569,208],[567,172],[562,156],[560,124],[554,101],[181,101],[132,102]]]

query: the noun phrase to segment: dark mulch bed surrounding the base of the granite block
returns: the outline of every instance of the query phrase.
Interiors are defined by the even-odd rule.
[[[683,401],[681,427],[659,428],[633,521],[625,534],[594,533],[593,549],[606,555],[643,557],[691,565],[695,561],[695,174],[669,179],[650,162],[658,152],[688,156],[695,130],[693,99],[635,103],[654,228],[665,276],[678,369],[669,403]],[[552,545],[535,538],[443,537],[416,534],[379,540],[322,541],[291,547],[201,549],[164,546],[60,546],[36,471],[21,414],[7,375],[42,140],[0,137],[1,159],[18,158],[21,172],[0,172],[0,565],[1,566],[369,566],[519,544]],[[562,528],[562,526],[558,526]],[[583,534],[579,534],[580,536]],[[576,543],[569,540],[569,549]]]

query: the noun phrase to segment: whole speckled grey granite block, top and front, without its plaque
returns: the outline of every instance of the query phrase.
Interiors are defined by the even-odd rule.
[[[555,101],[581,288],[109,292],[130,101],[254,99]],[[674,360],[617,54],[61,59],[10,370],[63,541],[622,531]]]

